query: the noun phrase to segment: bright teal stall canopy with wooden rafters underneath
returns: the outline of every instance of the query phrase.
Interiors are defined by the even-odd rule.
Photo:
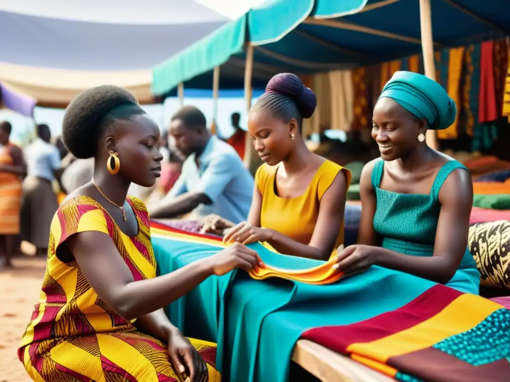
[[[431,0],[436,47],[510,35],[508,0]],[[309,74],[391,61],[420,53],[418,0],[270,0],[157,65],[152,92],[164,94],[217,65],[242,87],[246,42],[253,79]],[[224,69],[225,68],[225,69]],[[234,83],[234,78],[230,79]]]

